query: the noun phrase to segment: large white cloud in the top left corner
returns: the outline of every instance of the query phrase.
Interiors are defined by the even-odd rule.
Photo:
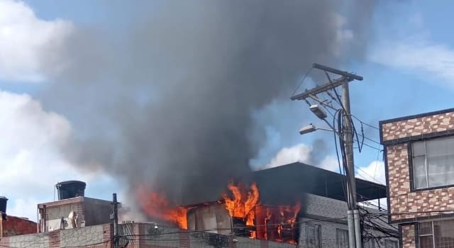
[[[0,0],[0,79],[43,81],[42,62],[52,60],[72,30],[67,21],[37,18],[23,2]]]

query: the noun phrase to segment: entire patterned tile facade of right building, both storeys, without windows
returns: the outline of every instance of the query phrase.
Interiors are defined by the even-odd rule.
[[[454,135],[454,109],[380,122],[385,150],[389,221],[401,224],[401,247],[418,246],[418,222],[454,209],[454,187],[413,189],[411,142]]]

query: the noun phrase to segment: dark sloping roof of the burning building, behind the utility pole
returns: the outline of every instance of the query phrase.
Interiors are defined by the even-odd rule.
[[[262,203],[294,200],[304,193],[346,201],[346,176],[309,164],[295,162],[263,169],[255,171],[253,178]],[[356,191],[358,202],[387,197],[386,186],[362,179],[356,179]]]

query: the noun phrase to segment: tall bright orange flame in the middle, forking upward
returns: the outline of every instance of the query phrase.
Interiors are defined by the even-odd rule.
[[[254,208],[259,198],[257,184],[253,183],[250,185],[250,191],[248,191],[247,196],[243,186],[240,184],[231,183],[228,184],[227,188],[233,195],[233,198],[230,198],[226,193],[222,194],[228,214],[232,217],[243,218],[246,225],[254,225]]]

